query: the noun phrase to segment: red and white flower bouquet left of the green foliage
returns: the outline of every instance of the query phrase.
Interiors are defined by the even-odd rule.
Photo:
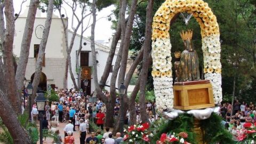
[[[124,135],[125,143],[149,143],[150,137],[154,135],[149,130],[149,123],[143,123],[141,125],[131,125],[128,129],[124,129],[126,133]]]

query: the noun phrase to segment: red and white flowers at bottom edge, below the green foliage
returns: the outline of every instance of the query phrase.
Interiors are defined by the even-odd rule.
[[[158,140],[157,144],[171,144],[171,143],[184,143],[184,144],[190,144],[186,141],[188,138],[188,134],[186,132],[180,132],[178,135],[175,135],[173,133],[172,135],[167,135],[166,133],[163,133],[161,135],[160,140]]]

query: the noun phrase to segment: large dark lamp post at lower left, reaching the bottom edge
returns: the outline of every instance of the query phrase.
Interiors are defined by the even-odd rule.
[[[39,121],[40,121],[40,144],[43,144],[43,116],[44,116],[44,109],[45,109],[45,103],[46,99],[44,97],[44,93],[38,93],[38,96],[36,97],[36,106],[39,113]]]

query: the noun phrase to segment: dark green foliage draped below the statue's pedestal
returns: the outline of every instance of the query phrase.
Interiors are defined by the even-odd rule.
[[[221,117],[212,114],[210,118],[200,121],[201,129],[204,131],[204,140],[206,143],[235,143],[232,135],[221,125]],[[161,137],[162,133],[180,133],[187,132],[187,141],[196,143],[196,134],[193,133],[194,117],[188,114],[181,114],[179,117],[171,120],[161,119],[153,123],[151,131],[154,133],[153,142],[155,143]]]

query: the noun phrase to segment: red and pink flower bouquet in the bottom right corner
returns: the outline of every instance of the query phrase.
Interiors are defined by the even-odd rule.
[[[256,140],[256,123],[254,125],[252,123],[245,123],[244,129],[237,130],[237,140],[242,143],[242,142],[249,142],[249,143],[254,143],[254,140]]]

